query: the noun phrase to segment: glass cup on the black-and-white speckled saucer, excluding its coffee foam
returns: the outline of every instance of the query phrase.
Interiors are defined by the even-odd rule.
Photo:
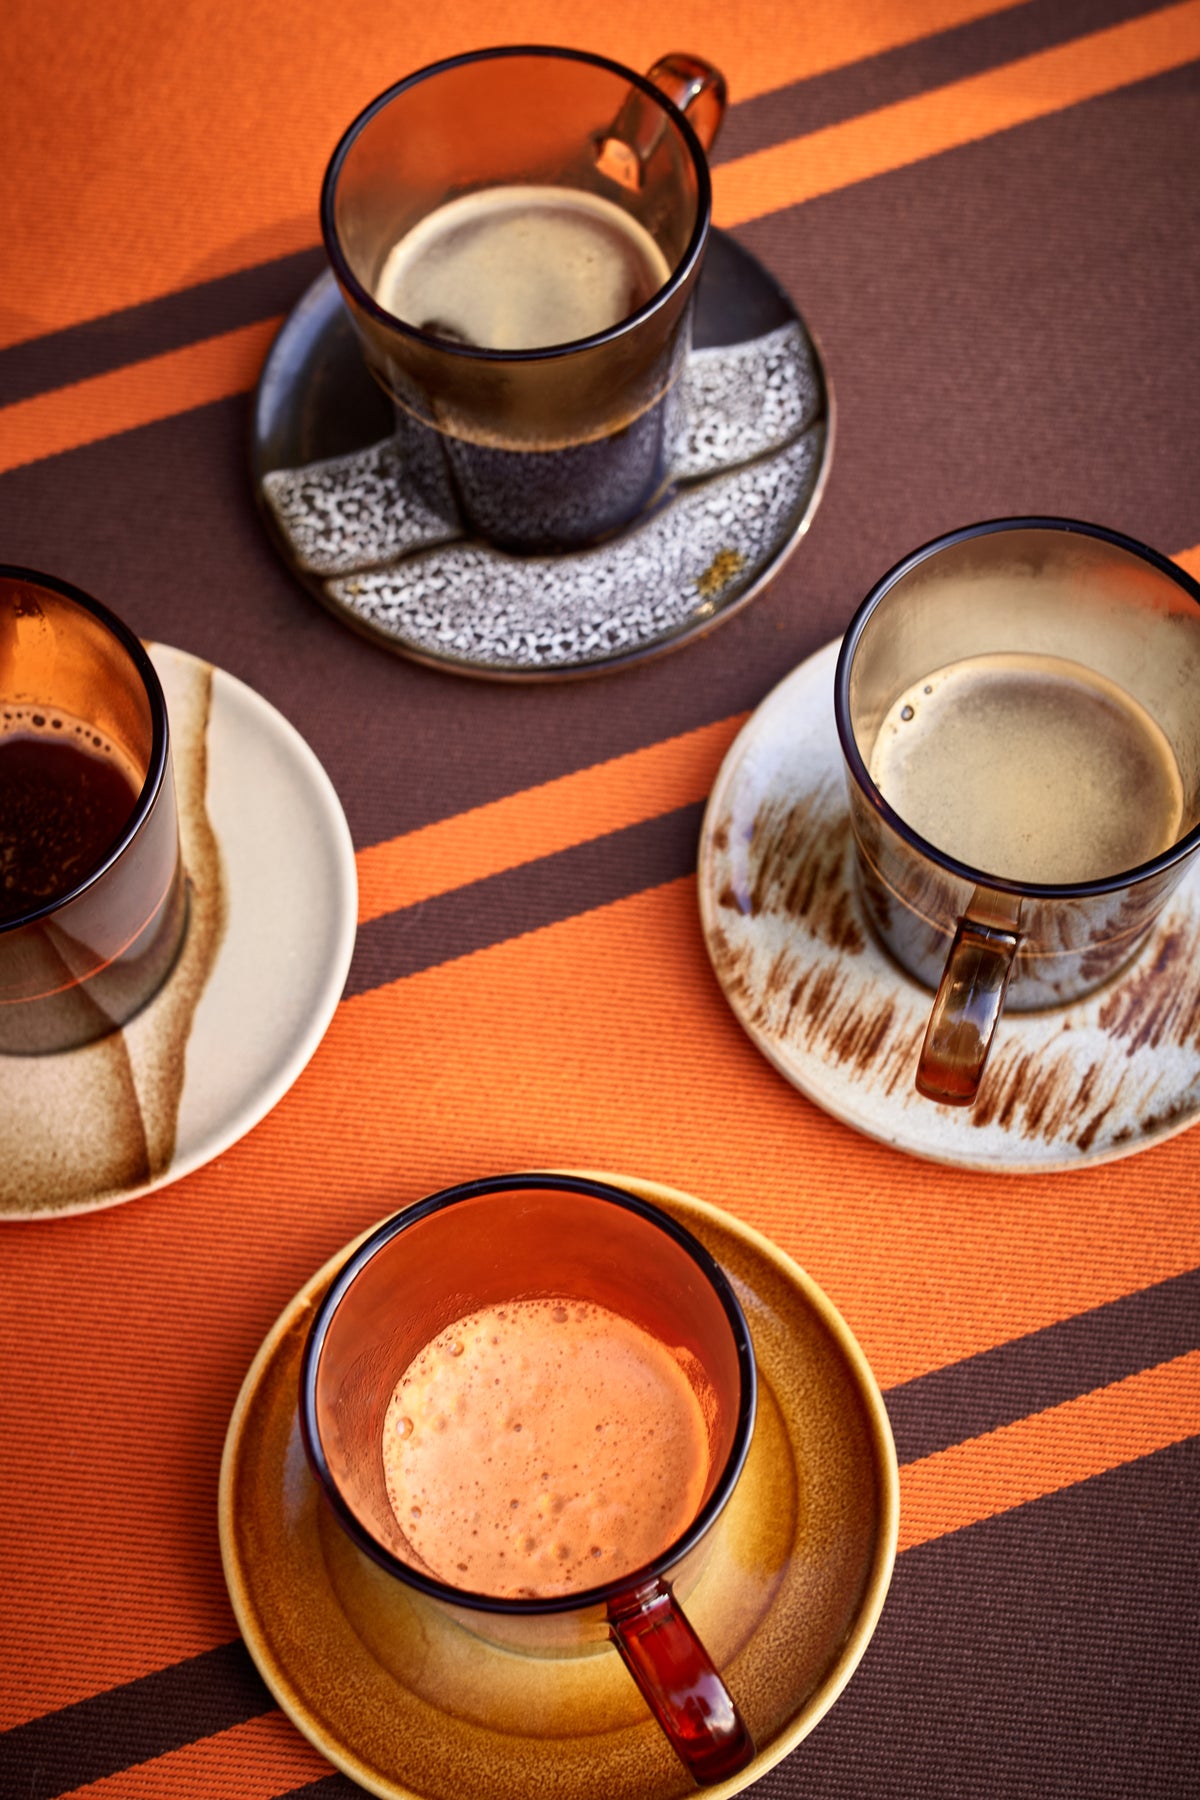
[[[371,373],[399,409],[407,473],[468,529],[567,551],[626,526],[664,481],[671,400],[709,234],[705,148],[721,76],[666,56],[649,76],[581,50],[504,47],[408,76],[349,126],[320,202],[329,263]],[[655,241],[662,284],[590,337],[486,349],[376,297],[394,245],[435,209],[498,187],[597,196]]]

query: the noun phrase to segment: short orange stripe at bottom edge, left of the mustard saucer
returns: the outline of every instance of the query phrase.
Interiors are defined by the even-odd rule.
[[[248,1719],[166,1757],[72,1787],[63,1800],[273,1800],[331,1768],[282,1712]]]

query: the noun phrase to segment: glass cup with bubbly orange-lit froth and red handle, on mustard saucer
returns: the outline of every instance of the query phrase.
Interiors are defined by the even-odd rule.
[[[471,1181],[387,1220],[335,1276],[300,1370],[317,1481],[390,1577],[376,1611],[432,1606],[525,1656],[615,1647],[700,1784],[754,1757],[684,1609],[754,1413],[720,1265],[581,1175]]]

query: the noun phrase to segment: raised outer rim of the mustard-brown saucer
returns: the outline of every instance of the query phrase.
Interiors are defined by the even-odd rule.
[[[795,1746],[802,1742],[802,1739],[808,1737],[808,1733],[820,1723],[855,1674],[878,1625],[883,1602],[891,1588],[900,1539],[900,1467],[887,1406],[876,1375],[867,1363],[858,1339],[829,1296],[806,1269],[802,1269],[792,1256],[788,1256],[786,1251],[783,1251],[754,1226],[745,1224],[741,1219],[727,1213],[720,1206],[714,1206],[711,1201],[698,1199],[680,1188],[671,1188],[646,1177],[621,1175],[612,1170],[596,1168],[549,1168],[536,1170],[536,1174],[574,1175],[590,1181],[604,1181],[617,1188],[624,1186],[640,1199],[662,1206],[664,1211],[671,1213],[671,1217],[682,1219],[684,1224],[691,1224],[693,1219],[700,1219],[702,1222],[709,1220],[718,1231],[727,1231],[738,1237],[761,1260],[770,1264],[775,1274],[802,1294],[806,1305],[811,1307],[824,1328],[835,1339],[867,1413],[871,1445],[874,1453],[873,1467],[878,1481],[878,1530],[871,1570],[864,1580],[864,1593],[855,1624],[842,1640],[835,1661],[826,1670],[813,1694],[810,1694],[808,1701],[799,1708],[792,1723],[781,1730],[770,1744],[759,1748],[745,1769],[705,1789],[707,1795],[712,1795],[712,1800],[732,1800],[734,1795],[748,1787],[750,1782],[759,1780],[768,1769],[795,1750]],[[398,1208],[398,1211],[403,1210],[405,1208]],[[281,1341],[290,1330],[293,1330],[297,1318],[306,1309],[313,1310],[313,1296],[322,1291],[322,1285],[327,1285],[336,1276],[345,1260],[353,1256],[354,1251],[365,1244],[383,1222],[385,1220],[376,1220],[367,1226],[365,1231],[360,1231],[354,1238],[342,1246],[342,1249],[335,1251],[333,1256],[320,1265],[320,1269],[309,1274],[309,1278],[284,1305],[279,1318],[273,1321],[259,1345],[241,1388],[237,1390],[237,1399],[234,1400],[221,1449],[221,1471],[218,1481],[218,1539],[225,1586],[234,1609],[234,1618],[237,1620],[237,1629],[241,1631],[246,1651],[270,1694],[297,1730],[327,1762],[333,1764],[333,1768],[340,1769],[351,1780],[376,1795],[378,1800],[435,1800],[435,1796],[380,1778],[378,1773],[362,1764],[345,1744],[336,1746],[336,1755],[331,1753],[335,1746],[322,1741],[320,1723],[309,1717],[308,1708],[302,1705],[300,1697],[288,1681],[288,1670],[273,1656],[264,1631],[259,1629],[257,1615],[245,1591],[241,1559],[237,1557],[236,1530],[232,1523],[232,1489],[246,1415],[264,1373],[279,1352]],[[369,1652],[363,1649],[363,1654]]]

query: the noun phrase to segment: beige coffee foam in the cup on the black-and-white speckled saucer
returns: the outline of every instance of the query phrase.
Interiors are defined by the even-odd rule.
[[[374,297],[396,319],[482,349],[606,331],[671,277],[649,232],[574,187],[506,185],[437,207],[392,247]]]

